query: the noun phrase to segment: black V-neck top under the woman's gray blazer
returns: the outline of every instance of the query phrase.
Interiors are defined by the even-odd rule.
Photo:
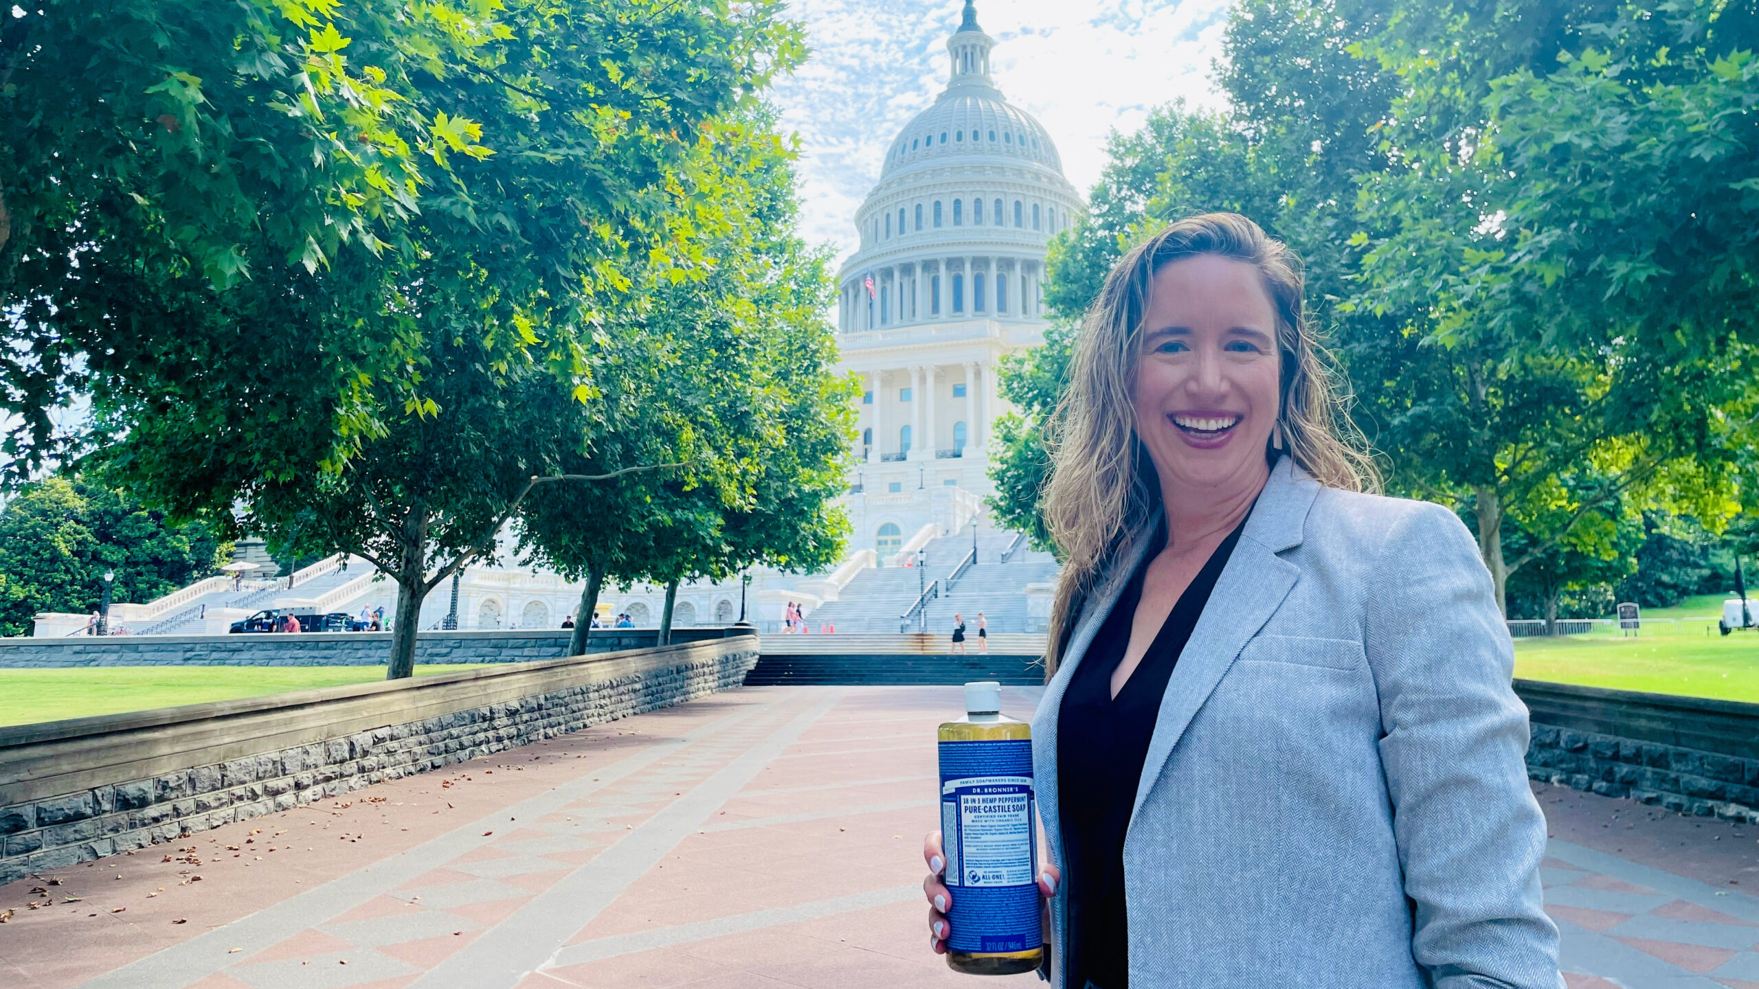
[[[1145,558],[1062,693],[1057,711],[1057,813],[1066,855],[1062,882],[1069,890],[1064,945],[1069,989],[1089,982],[1098,989],[1129,985],[1124,831],[1136,804],[1136,785],[1166,683],[1244,528],[1242,521],[1215,547],[1124,681],[1124,690],[1112,699],[1112,674],[1129,648],[1142,577],[1154,556]],[[1164,538],[1163,530],[1154,538]]]

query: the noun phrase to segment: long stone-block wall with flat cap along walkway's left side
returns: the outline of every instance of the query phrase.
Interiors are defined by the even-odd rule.
[[[0,729],[0,883],[739,686],[756,635]]]

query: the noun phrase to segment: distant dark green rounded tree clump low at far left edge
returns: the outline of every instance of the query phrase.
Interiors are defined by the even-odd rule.
[[[47,477],[0,509],[0,635],[30,635],[40,611],[148,602],[218,572],[232,546],[202,524],[172,524],[102,479]]]

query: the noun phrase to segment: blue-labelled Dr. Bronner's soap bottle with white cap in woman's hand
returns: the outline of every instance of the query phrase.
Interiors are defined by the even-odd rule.
[[[1045,959],[1033,797],[1033,725],[1001,713],[1001,685],[966,685],[966,716],[939,730],[946,964],[1017,975]]]

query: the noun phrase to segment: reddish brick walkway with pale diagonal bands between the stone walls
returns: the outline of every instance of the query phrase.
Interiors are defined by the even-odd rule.
[[[959,704],[748,688],[0,887],[0,985],[969,984],[918,892]],[[1759,987],[1759,829],[1539,795],[1573,987]]]

